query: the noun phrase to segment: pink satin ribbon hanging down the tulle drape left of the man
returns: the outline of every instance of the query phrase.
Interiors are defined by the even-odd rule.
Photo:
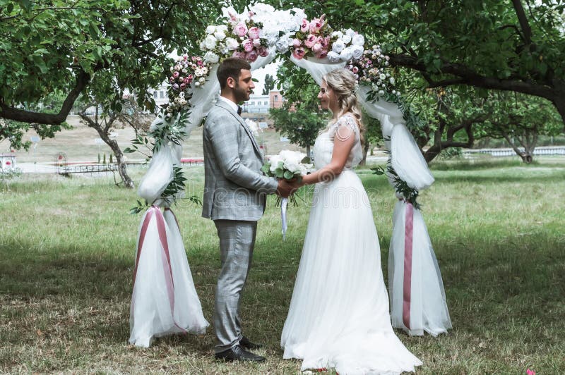
[[[169,209],[170,210],[170,209]],[[171,211],[172,216],[174,217],[174,221],[177,223],[177,227],[179,226],[179,222],[177,221],[177,216],[174,215],[174,212]],[[169,305],[171,307],[171,315],[172,320],[175,326],[179,328],[181,331],[186,333],[186,330],[177,324],[177,321],[174,319],[174,281],[172,278],[172,267],[171,267],[171,257],[169,254],[169,242],[167,241],[167,230],[165,229],[165,217],[163,216],[161,210],[157,206],[151,206],[148,209],[147,215],[145,215],[145,220],[143,221],[143,225],[141,226],[141,232],[139,233],[139,242],[137,247],[137,257],[136,257],[136,267],[133,269],[133,288],[136,285],[136,277],[137,277],[137,267],[139,264],[139,258],[141,256],[141,249],[143,248],[143,241],[145,240],[145,233],[147,233],[147,229],[149,227],[149,223],[151,219],[155,215],[155,220],[157,221],[157,233],[159,233],[159,240],[161,242],[163,252],[161,253],[162,257],[162,264],[163,264],[163,273],[165,276],[165,285],[167,287],[167,295],[169,297]],[[132,304],[133,309],[133,304]]]

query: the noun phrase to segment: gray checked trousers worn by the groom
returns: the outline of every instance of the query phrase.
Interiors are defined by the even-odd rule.
[[[215,352],[223,352],[242,339],[239,304],[251,268],[256,221],[215,220],[220,238],[222,268],[216,285],[214,330]]]

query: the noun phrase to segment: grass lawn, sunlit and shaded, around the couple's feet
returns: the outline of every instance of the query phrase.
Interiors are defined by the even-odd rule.
[[[424,365],[417,374],[565,374],[565,162],[441,162],[420,201],[446,287],[453,330],[398,332]],[[374,210],[388,281],[395,198],[385,178],[359,169]],[[143,169],[131,171],[139,180]],[[201,194],[203,169],[186,169]],[[302,193],[309,202],[309,191]],[[128,345],[129,302],[141,215],[135,191],[112,178],[24,175],[0,185],[0,372],[295,374],[280,333],[309,205],[291,207],[283,242],[274,199],[258,226],[242,302],[246,335],[265,364],[213,360],[213,331]],[[210,321],[220,261],[212,221],[188,202],[174,210]]]

